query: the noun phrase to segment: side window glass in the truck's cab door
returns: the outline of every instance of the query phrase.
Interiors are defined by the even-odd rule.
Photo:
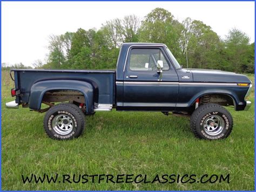
[[[169,65],[160,49],[133,48],[130,52],[130,70],[132,71],[156,71],[157,61],[163,60],[163,70],[169,70]]]

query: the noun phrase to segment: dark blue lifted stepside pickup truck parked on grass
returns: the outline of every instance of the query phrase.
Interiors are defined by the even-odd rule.
[[[164,44],[123,44],[116,71],[14,69],[10,74],[15,101],[6,107],[46,112],[45,132],[58,140],[77,138],[86,115],[112,108],[190,116],[197,138],[224,139],[233,119],[223,106],[235,111],[251,106],[246,99],[252,83],[246,76],[182,68]]]

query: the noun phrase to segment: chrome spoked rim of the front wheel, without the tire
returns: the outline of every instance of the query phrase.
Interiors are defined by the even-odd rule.
[[[218,135],[224,128],[224,120],[221,116],[211,115],[204,120],[204,130],[209,135]]]

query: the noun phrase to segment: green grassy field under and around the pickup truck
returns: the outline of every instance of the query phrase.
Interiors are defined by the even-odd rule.
[[[248,75],[254,82],[254,76]],[[249,111],[235,112],[226,140],[194,138],[189,119],[150,112],[97,112],[80,138],[56,141],[43,129],[44,114],[6,109],[12,88],[2,72],[3,190],[253,190],[254,89]],[[23,175],[230,174],[230,183],[25,183]]]

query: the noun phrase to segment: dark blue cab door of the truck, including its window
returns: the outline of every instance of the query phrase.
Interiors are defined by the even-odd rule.
[[[126,110],[172,111],[178,97],[178,76],[164,47],[131,47],[124,70],[123,107]],[[162,77],[157,61],[164,64]]]

